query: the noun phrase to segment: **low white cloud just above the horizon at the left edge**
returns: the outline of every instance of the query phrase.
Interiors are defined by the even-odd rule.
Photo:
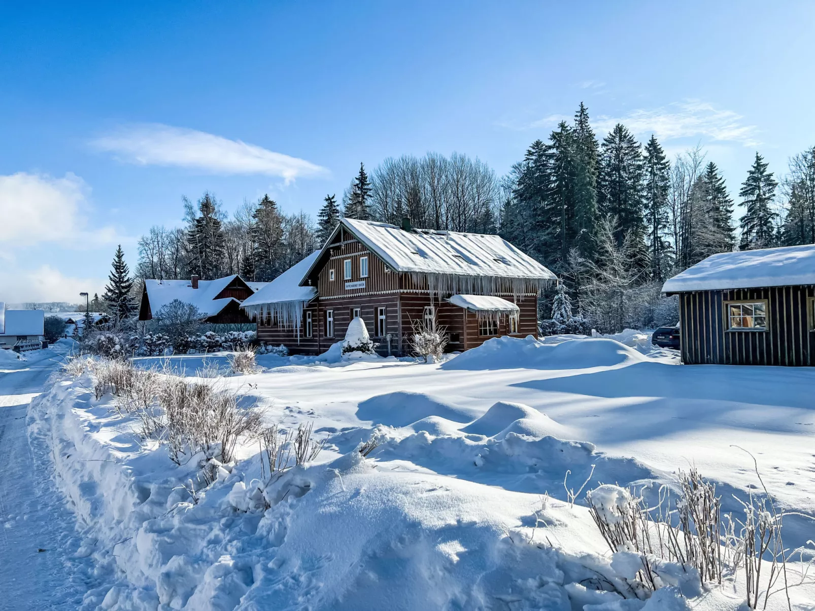
[[[22,270],[0,267],[0,301],[26,303],[31,301],[81,301],[80,292],[93,295],[104,291],[104,279],[65,276],[50,265]]]

